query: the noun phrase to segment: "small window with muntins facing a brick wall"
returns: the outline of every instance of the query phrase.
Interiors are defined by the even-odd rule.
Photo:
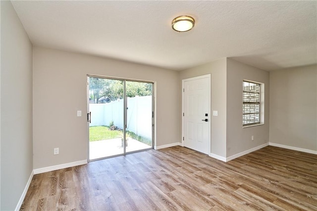
[[[243,81],[243,126],[260,124],[261,84]]]

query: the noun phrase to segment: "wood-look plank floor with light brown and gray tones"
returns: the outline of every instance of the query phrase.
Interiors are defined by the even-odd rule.
[[[317,155],[265,147],[227,163],[183,148],[34,175],[21,211],[317,210]]]

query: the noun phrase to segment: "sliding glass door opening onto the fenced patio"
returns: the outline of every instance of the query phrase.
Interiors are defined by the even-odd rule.
[[[153,147],[153,83],[88,76],[89,160]]]

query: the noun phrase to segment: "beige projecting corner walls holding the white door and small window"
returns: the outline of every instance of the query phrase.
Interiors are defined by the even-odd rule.
[[[180,79],[209,73],[211,73],[211,113],[212,110],[218,111],[218,116],[211,116],[211,153],[227,158],[268,143],[269,73],[230,58],[222,58],[183,70],[180,72]],[[264,125],[242,127],[243,80],[265,84]],[[251,141],[252,135],[254,141]]]

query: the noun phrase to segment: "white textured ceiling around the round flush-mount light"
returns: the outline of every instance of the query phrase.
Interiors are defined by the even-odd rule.
[[[317,63],[317,1],[12,1],[34,46],[182,70],[231,57],[264,70]],[[193,30],[171,21],[190,15]]]

